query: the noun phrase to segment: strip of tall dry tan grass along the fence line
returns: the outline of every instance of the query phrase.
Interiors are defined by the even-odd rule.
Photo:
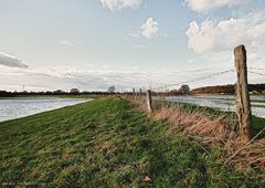
[[[145,97],[126,98],[147,112]],[[156,121],[170,123],[170,134],[184,132],[201,143],[203,148],[221,146],[224,165],[232,165],[237,170],[247,167],[265,169],[265,139],[256,139],[257,135],[248,143],[241,142],[235,132],[236,121],[227,114],[209,116],[204,112],[187,112],[181,105],[159,102],[153,104],[153,113],[149,115]]]

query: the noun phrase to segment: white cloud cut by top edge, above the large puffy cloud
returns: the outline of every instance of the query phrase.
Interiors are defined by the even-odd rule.
[[[186,4],[193,11],[206,13],[209,11],[222,9],[225,7],[233,8],[246,4],[253,0],[184,0]]]

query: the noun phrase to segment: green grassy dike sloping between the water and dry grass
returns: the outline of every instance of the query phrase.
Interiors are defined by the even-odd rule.
[[[121,98],[0,123],[0,184],[43,187],[262,187]],[[145,176],[151,181],[145,182]]]

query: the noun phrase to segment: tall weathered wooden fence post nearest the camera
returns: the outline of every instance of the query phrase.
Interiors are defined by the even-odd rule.
[[[246,50],[244,45],[234,49],[234,64],[237,73],[235,111],[239,117],[239,136],[243,142],[248,142],[252,112],[247,85]]]

